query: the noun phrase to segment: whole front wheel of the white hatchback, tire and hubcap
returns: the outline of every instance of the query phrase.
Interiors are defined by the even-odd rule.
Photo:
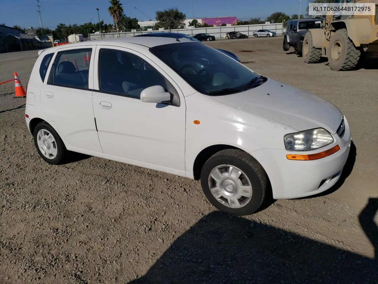
[[[248,153],[227,149],[214,154],[204,164],[201,186],[215,208],[243,216],[260,208],[268,177],[259,162]]]

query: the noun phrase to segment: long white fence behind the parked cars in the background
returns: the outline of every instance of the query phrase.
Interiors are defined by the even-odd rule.
[[[273,24],[262,24],[262,25],[240,25],[240,26],[231,26],[231,27],[210,27],[210,28],[191,28],[191,29],[177,29],[170,30],[171,33],[183,33],[194,36],[198,33],[208,33],[215,38],[220,39],[224,38],[225,34],[229,31],[239,31],[240,33],[246,34],[248,36],[253,36],[253,32],[257,30],[271,30],[275,31],[276,34],[283,34],[282,23],[273,23]],[[156,31],[155,31],[156,32]],[[127,36],[136,36],[138,34],[152,33],[151,31],[120,31],[118,33],[102,33],[100,34],[89,34],[89,39],[101,39],[102,38],[114,38],[114,37],[127,37]]]

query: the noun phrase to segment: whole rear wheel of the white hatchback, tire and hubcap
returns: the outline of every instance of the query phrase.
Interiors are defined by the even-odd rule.
[[[47,122],[38,123],[34,129],[34,144],[39,155],[49,164],[65,162],[68,151],[58,133]]]

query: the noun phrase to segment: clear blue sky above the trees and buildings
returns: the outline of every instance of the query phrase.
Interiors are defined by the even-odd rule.
[[[39,27],[37,2],[35,0],[0,0],[0,23],[7,26]],[[157,10],[177,7],[186,16],[192,17],[191,0],[121,0],[127,16],[138,20],[148,20],[144,14],[155,18]],[[129,4],[133,3],[133,4]],[[301,12],[304,13],[308,1],[302,0]],[[82,24],[92,20],[98,22],[96,8],[99,8],[100,20],[112,23],[107,11],[108,0],[40,0],[43,27],[55,28],[59,23]],[[237,16],[239,19],[266,17],[273,12],[288,15],[298,14],[299,0],[193,0],[194,17]]]

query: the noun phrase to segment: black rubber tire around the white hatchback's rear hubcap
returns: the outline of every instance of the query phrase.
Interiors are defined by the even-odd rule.
[[[40,148],[38,146],[37,137],[38,137],[38,132],[40,130],[46,130],[46,131],[50,132],[50,134],[53,136],[53,138],[55,140],[57,154],[56,154],[55,158],[53,158],[53,159],[47,158],[42,153],[42,151],[40,150]],[[50,124],[48,124],[45,121],[38,123],[36,128],[34,129],[33,136],[34,136],[34,145],[36,145],[37,152],[42,157],[42,159],[44,159],[46,162],[48,162],[51,165],[64,164],[69,152],[67,151],[67,149],[66,149],[62,139],[60,138],[59,134],[54,130],[54,128]]]

